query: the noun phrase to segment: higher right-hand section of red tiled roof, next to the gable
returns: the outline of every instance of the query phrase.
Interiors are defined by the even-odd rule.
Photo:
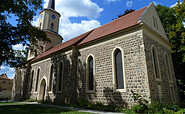
[[[138,24],[138,19],[145,11],[146,7],[127,14],[121,18],[118,18],[108,24],[105,24],[101,27],[96,28],[90,35],[88,35],[82,42],[78,45],[90,42],[92,40],[101,38],[103,36],[118,32],[120,30],[126,29],[128,27],[134,26]]]

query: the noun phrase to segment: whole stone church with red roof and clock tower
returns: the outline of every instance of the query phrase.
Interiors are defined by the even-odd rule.
[[[171,44],[153,3],[64,43],[59,20],[50,0],[38,25],[51,43],[30,50],[27,68],[16,69],[14,100],[131,106],[134,91],[151,101],[179,101]]]

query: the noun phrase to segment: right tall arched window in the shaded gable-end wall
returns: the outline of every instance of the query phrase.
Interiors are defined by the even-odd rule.
[[[167,74],[168,74],[168,79],[169,81],[172,81],[172,72],[170,69],[170,61],[167,53],[165,53],[165,61],[166,61],[166,69],[167,69]]]

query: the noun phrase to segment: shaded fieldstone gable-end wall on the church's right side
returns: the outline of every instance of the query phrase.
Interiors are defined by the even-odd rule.
[[[164,102],[172,102],[171,99],[171,92],[170,92],[170,85],[174,86],[175,90],[175,97],[176,102],[178,102],[178,92],[177,92],[177,85],[176,85],[176,79],[175,79],[175,73],[173,68],[173,62],[171,57],[171,52],[169,49],[165,48],[164,46],[160,45],[159,43],[153,41],[149,37],[145,36],[143,37],[144,44],[145,44],[145,52],[146,52],[146,61],[147,61],[147,72],[148,72],[148,78],[149,78],[149,84],[150,84],[150,94],[153,101],[159,101],[159,91],[158,91],[158,85],[161,85],[162,89],[162,100]],[[157,51],[157,57],[159,60],[159,68],[160,68],[160,74],[161,74],[161,81],[157,81],[154,75],[154,66],[153,66],[153,60],[152,60],[152,46],[156,48]],[[169,82],[169,76],[167,73],[167,66],[165,63],[165,53],[168,54],[170,58],[170,70],[172,71],[172,78],[173,82]]]

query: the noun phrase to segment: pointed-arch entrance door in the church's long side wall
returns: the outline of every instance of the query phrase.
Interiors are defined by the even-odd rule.
[[[44,101],[44,96],[46,92],[46,81],[43,79],[40,84],[39,100]]]

